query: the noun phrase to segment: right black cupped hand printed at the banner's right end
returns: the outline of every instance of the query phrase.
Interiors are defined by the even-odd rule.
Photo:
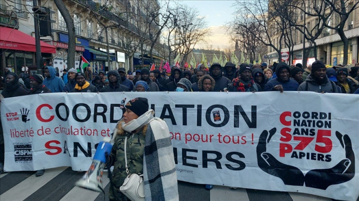
[[[325,190],[330,185],[342,184],[348,182],[354,177],[355,155],[351,146],[351,140],[348,135],[344,135],[343,137],[343,135],[338,131],[335,132],[335,136],[345,149],[346,159],[329,169],[316,169],[309,171],[305,175],[305,184],[307,187]]]

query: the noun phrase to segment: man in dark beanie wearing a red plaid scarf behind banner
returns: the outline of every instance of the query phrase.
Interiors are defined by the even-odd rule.
[[[261,70],[261,69],[258,69]],[[235,78],[233,83],[229,84],[229,92],[261,92],[262,88],[259,84],[254,82],[252,77],[252,70],[249,64],[242,63],[238,70],[240,77]]]

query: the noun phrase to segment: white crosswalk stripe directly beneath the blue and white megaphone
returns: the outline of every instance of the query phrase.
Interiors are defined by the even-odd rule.
[[[107,177],[107,172],[104,172],[102,176],[103,180],[103,187],[105,188],[106,185],[110,182],[109,178]],[[105,191],[106,192],[106,191]],[[108,193],[108,192],[106,192]],[[87,201],[87,200],[95,200],[96,197],[100,193],[89,191],[84,188],[74,187],[69,193],[67,193],[60,201],[72,201],[72,200],[78,200],[78,201]]]

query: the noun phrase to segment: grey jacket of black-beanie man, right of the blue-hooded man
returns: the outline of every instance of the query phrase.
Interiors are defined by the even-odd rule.
[[[298,87],[298,91],[338,93],[338,88],[336,87],[335,83],[330,81],[327,77],[324,79],[324,82],[319,85],[317,81],[314,80],[311,75],[309,75],[306,81]]]

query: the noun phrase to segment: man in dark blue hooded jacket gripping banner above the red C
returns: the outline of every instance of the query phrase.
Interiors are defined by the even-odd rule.
[[[290,68],[284,62],[278,63],[275,68],[276,78],[269,80],[264,91],[297,91],[298,82],[290,79]]]

